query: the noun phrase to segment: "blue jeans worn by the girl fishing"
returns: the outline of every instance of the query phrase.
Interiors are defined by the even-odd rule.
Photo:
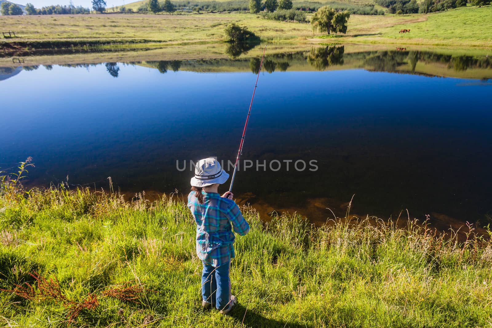
[[[228,306],[231,298],[231,280],[229,278],[230,263],[219,267],[212,267],[203,262],[202,272],[202,298],[212,303],[218,310]]]

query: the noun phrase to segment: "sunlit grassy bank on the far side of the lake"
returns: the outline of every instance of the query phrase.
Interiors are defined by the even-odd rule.
[[[465,7],[433,14],[352,15],[347,34],[332,42],[391,43],[492,47],[487,31],[492,6]],[[2,39],[3,55],[28,54],[30,49],[101,48],[141,49],[145,44],[214,43],[224,40],[224,28],[235,22],[246,26],[263,41],[326,42],[314,35],[309,23],[266,20],[245,12],[186,15],[44,15],[0,16],[0,25],[19,38]],[[400,34],[400,29],[410,33]],[[322,37],[322,36],[321,36]],[[325,36],[326,37],[326,36]],[[31,47],[31,48],[30,48]],[[84,48],[85,47],[85,48]]]

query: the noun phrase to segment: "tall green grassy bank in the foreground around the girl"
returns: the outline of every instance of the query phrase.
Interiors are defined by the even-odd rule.
[[[200,305],[195,225],[171,198],[88,190],[0,196],[0,322],[8,327],[489,327],[492,248],[407,229],[298,217],[236,241],[231,316]],[[431,227],[430,225],[429,227]],[[34,273],[30,275],[30,273]],[[36,283],[37,279],[37,283]],[[29,283],[34,288],[28,288]],[[20,287],[16,287],[16,285]],[[14,293],[12,291],[16,291]],[[19,296],[23,295],[23,297]],[[26,299],[27,298],[27,299]],[[70,322],[71,319],[71,322]]]

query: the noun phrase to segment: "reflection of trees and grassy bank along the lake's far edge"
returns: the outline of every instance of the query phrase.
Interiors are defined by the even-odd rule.
[[[255,44],[228,44],[226,52],[231,58],[237,58],[250,50]],[[365,51],[346,53],[342,46],[313,47],[308,52],[298,51],[292,53],[278,53],[265,56],[263,71],[273,73],[275,71],[294,70],[326,70],[343,68],[364,68],[369,71],[418,74],[425,76],[450,76],[468,77],[487,80],[492,78],[492,58],[476,56],[453,56],[429,51]],[[177,72],[188,71],[221,71],[227,67],[227,71],[245,71],[256,74],[260,67],[260,57],[242,59],[208,59],[208,60],[152,60],[132,61],[127,63],[84,63],[62,64],[62,67],[85,67],[105,65],[107,72],[112,77],[120,76],[119,65],[144,65],[157,69],[160,73],[168,70]],[[40,65],[25,65],[15,67],[0,67],[0,81],[16,75],[20,70],[37,70]],[[53,65],[43,65],[46,70],[52,70]],[[295,68],[293,68],[295,67]],[[338,67],[338,68],[337,68]],[[14,70],[16,73],[14,74]],[[470,72],[468,72],[470,71]],[[463,72],[465,75],[463,76]]]

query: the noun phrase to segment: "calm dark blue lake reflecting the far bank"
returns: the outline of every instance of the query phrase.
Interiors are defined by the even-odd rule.
[[[267,49],[238,202],[322,222],[355,195],[363,216],[491,220],[492,58],[394,49]],[[243,51],[1,67],[0,167],[32,156],[28,186],[185,195],[190,160],[232,170],[260,61]]]

